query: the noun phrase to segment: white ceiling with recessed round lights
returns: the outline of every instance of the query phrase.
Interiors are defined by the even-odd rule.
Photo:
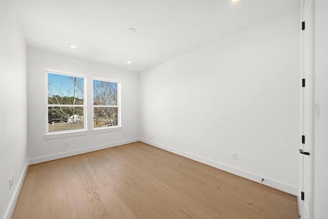
[[[12,2],[28,46],[137,72],[300,7],[300,0]]]

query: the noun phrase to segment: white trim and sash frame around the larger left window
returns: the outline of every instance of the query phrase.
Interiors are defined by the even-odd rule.
[[[45,69],[46,70],[46,133],[44,134],[46,139],[51,139],[51,138],[59,138],[59,137],[69,137],[69,136],[76,136],[76,135],[84,135],[88,134],[87,130],[87,76],[86,75],[81,75],[81,74],[75,74],[71,72],[65,72],[65,71],[58,71],[58,70],[53,70],[53,69]],[[76,76],[76,77],[82,77],[83,78],[83,105],[74,105],[75,107],[83,107],[83,120],[84,120],[84,129],[78,129],[78,130],[67,130],[67,131],[56,131],[56,132],[49,132],[48,129],[48,73],[54,73],[54,74],[61,74],[61,75],[67,75],[67,76]],[[52,106],[63,106],[63,105],[52,105]],[[65,106],[73,106],[73,105],[65,105]]]

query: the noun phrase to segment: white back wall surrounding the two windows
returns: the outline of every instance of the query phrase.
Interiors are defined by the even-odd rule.
[[[27,56],[28,146],[31,164],[137,141],[138,73],[29,47]],[[89,130],[87,135],[46,139],[46,68],[86,75],[87,102],[91,104],[93,76],[120,81],[122,129],[103,133]],[[92,112],[92,105],[87,107],[87,111]],[[88,121],[92,126],[92,117]],[[65,142],[69,143],[69,147],[65,147]]]

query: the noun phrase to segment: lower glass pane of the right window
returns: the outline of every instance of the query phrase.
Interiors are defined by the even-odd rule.
[[[117,107],[94,107],[93,127],[117,126]]]

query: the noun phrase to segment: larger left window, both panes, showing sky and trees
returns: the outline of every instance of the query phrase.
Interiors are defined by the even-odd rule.
[[[48,71],[47,132],[86,130],[85,77]]]

